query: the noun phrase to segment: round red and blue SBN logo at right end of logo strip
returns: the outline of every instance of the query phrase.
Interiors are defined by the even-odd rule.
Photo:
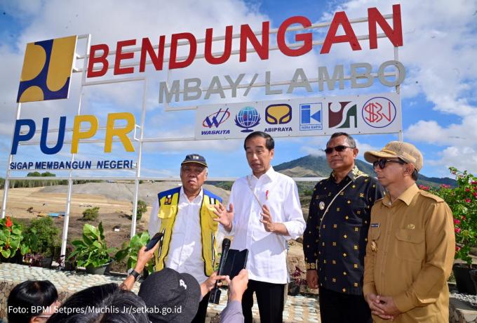
[[[396,119],[396,105],[388,98],[378,96],[368,100],[361,110],[366,124],[373,128],[384,128]]]

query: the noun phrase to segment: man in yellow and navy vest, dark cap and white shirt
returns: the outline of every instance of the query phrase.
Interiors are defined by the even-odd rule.
[[[187,272],[199,284],[213,279],[217,258],[215,204],[222,199],[203,190],[207,162],[199,154],[188,154],[180,166],[181,187],[160,192],[152,207],[149,235],[163,233],[156,253],[156,271],[171,268]],[[214,220],[214,218],[216,220]],[[192,322],[205,322],[209,294],[202,298]]]

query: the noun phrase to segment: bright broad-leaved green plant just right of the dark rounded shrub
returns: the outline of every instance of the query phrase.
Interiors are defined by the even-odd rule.
[[[83,225],[83,239],[72,242],[74,251],[68,259],[76,257],[78,267],[100,267],[111,261],[110,253],[116,252],[116,248],[108,248],[105,241],[102,222],[96,228],[86,223]]]

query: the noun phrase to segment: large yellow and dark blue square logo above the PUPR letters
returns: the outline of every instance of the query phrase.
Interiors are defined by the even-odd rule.
[[[17,102],[68,98],[76,36],[27,44]]]

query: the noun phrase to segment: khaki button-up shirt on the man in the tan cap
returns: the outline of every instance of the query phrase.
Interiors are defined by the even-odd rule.
[[[449,322],[454,253],[452,212],[443,199],[415,184],[392,204],[386,195],[371,210],[363,293],[391,296],[402,312],[394,322]]]

